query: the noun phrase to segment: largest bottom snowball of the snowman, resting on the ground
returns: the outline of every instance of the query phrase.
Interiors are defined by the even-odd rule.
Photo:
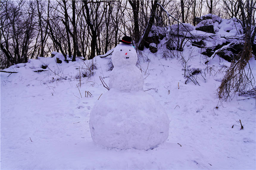
[[[143,91],[110,89],[93,107],[89,125],[93,142],[109,148],[148,150],[169,134],[166,112]]]

